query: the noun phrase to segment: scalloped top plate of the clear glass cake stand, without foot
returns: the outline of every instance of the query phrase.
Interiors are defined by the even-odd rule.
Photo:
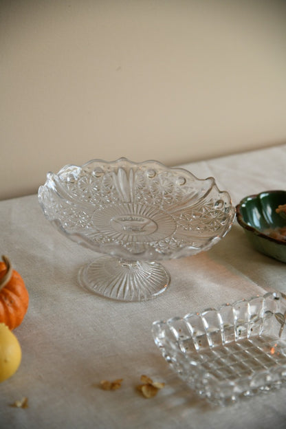
[[[214,207],[217,201],[220,207]],[[235,218],[230,195],[217,188],[213,177],[198,179],[184,168],[124,157],[111,162],[91,159],[83,166],[68,164],[56,174],[47,173],[39,188],[39,203],[45,217],[69,239],[133,261],[179,258],[208,250],[227,234]],[[195,214],[190,213],[191,205]],[[148,223],[146,234],[140,231],[126,238],[115,210],[121,223],[129,216],[128,210],[133,217],[140,213]],[[190,234],[192,215],[197,230]],[[195,216],[200,219],[196,221]],[[204,230],[199,231],[199,222]]]

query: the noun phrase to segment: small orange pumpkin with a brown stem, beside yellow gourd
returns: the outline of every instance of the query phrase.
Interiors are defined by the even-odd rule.
[[[0,262],[0,322],[10,330],[22,322],[29,304],[29,294],[20,274],[12,269],[7,256]]]

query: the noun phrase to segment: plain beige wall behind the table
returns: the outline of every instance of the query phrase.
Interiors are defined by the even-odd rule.
[[[285,1],[2,0],[0,20],[0,199],[93,158],[286,141]]]

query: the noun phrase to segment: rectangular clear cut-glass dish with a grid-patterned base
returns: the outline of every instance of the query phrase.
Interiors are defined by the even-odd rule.
[[[218,309],[153,322],[166,362],[214,404],[280,388],[286,382],[286,296],[267,292]]]

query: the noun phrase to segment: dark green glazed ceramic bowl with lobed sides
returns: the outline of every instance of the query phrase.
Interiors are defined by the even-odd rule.
[[[286,263],[286,239],[269,235],[286,227],[286,219],[275,211],[283,204],[286,204],[286,190],[249,195],[236,206],[236,219],[256,250]]]

